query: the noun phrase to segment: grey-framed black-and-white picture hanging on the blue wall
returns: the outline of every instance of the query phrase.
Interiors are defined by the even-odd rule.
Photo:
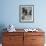
[[[34,22],[34,5],[19,6],[19,21]]]

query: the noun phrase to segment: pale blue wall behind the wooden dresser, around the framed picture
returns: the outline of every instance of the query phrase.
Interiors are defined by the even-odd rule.
[[[0,25],[13,24],[16,28],[46,28],[46,0],[0,0]],[[19,22],[19,5],[34,5],[34,23]]]

